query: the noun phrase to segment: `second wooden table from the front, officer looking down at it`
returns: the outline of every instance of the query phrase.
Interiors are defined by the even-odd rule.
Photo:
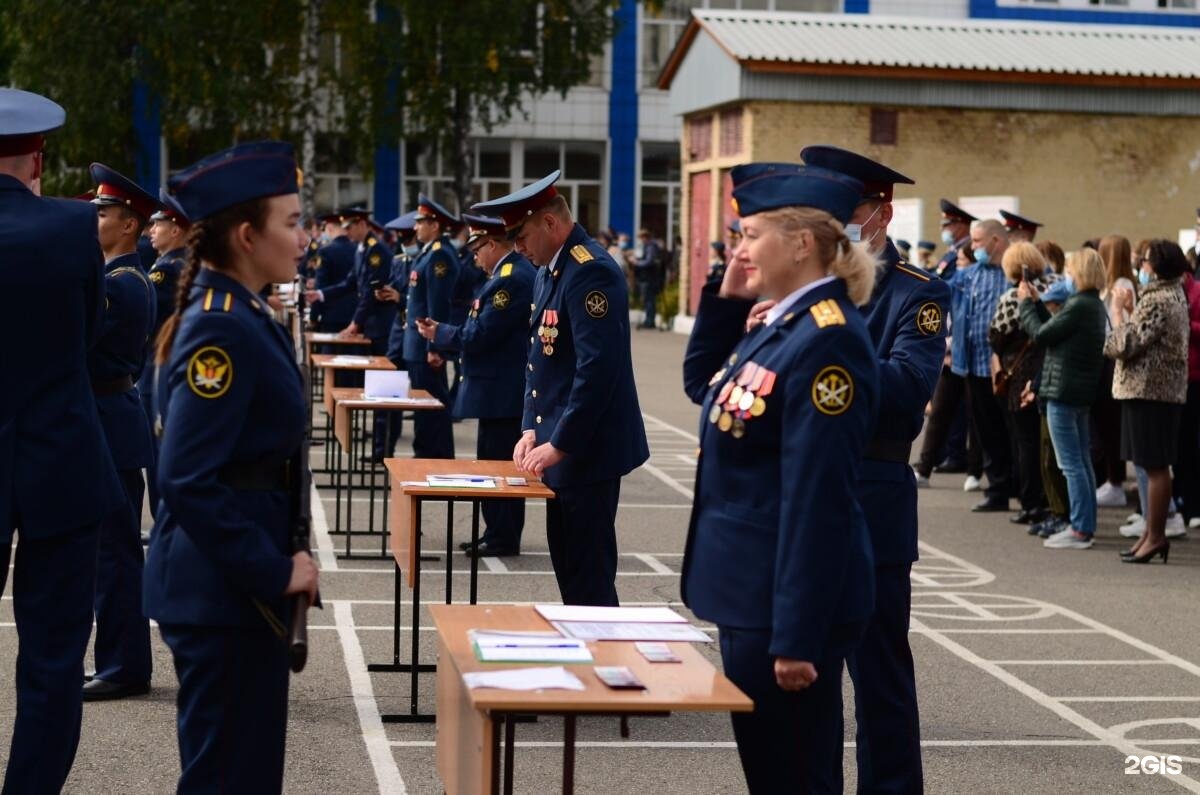
[[[546,501],[554,498],[551,491],[541,480],[538,480],[526,472],[520,472],[512,461],[460,461],[456,459],[388,459],[384,461],[388,474],[391,479],[392,494],[401,495],[407,501],[406,506],[400,504],[401,497],[396,498],[396,508],[389,515],[389,531],[391,536],[391,556],[395,561],[395,587],[392,591],[392,635],[390,663],[373,663],[367,665],[370,671],[408,671],[409,675],[409,711],[403,715],[384,715],[384,723],[431,723],[433,715],[422,715],[418,709],[416,676],[421,673],[432,673],[434,665],[421,664],[419,662],[419,630],[421,615],[421,507],[426,502],[446,503],[446,587],[445,600],[452,600],[454,584],[454,506],[456,502],[472,503],[470,516],[470,540],[479,543],[479,510],[484,500],[536,500]],[[521,477],[526,478],[527,485],[510,486],[502,482],[494,489],[448,489],[444,486],[424,485],[426,477],[431,474],[475,474],[497,476],[500,478]],[[420,482],[420,483],[418,483]],[[410,484],[410,485],[406,485]],[[547,502],[548,510],[548,502]],[[407,585],[413,591],[413,636],[409,647],[409,662],[400,662],[400,602],[401,602],[401,569],[407,568]],[[479,592],[479,558],[470,558],[470,604],[475,604]]]

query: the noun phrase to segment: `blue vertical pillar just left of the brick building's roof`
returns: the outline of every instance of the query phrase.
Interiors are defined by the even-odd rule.
[[[608,92],[608,223],[632,234],[637,196],[637,0],[613,12],[612,90]],[[595,229],[593,229],[594,232]]]

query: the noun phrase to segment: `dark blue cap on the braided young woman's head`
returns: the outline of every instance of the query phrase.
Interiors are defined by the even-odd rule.
[[[167,192],[193,222],[252,199],[299,190],[292,144],[257,141],[199,160],[167,180]]]

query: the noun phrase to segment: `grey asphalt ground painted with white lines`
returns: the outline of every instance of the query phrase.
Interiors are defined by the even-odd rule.
[[[650,461],[625,478],[618,536],[618,592],[628,605],[679,604],[679,564],[694,473],[697,410],[683,396],[685,339],[634,337]],[[318,417],[318,422],[323,417]],[[408,453],[410,426],[397,446]],[[462,458],[474,424],[455,426]],[[322,462],[314,449],[314,465]],[[820,461],[814,461],[820,466]],[[320,477],[324,480],[324,477]],[[920,492],[922,561],[913,569],[912,647],[930,793],[1200,791],[1200,543],[1175,543],[1171,562],[1127,566],[1116,527],[1128,509],[1102,510],[1097,544],[1045,550],[1006,514],[968,512],[962,476],[935,476]],[[391,659],[392,564],[338,560],[344,536],[330,534],[337,506],[322,489],[316,516],[324,611],[311,614],[308,668],[292,679],[286,790],[289,793],[440,793],[433,724],[384,724],[409,709],[407,674],[368,674]],[[65,495],[68,497],[68,495]],[[367,530],[368,502],[353,496],[354,526]],[[342,503],[344,509],[344,503]],[[382,506],[379,506],[382,508]],[[426,508],[426,549],[444,555],[444,509]],[[374,516],[376,527],[382,516]],[[343,519],[341,520],[344,522]],[[830,528],[835,532],[835,528]],[[469,537],[456,512],[455,540]],[[378,536],[352,537],[355,554],[378,555]],[[468,561],[454,560],[456,599],[467,593]],[[426,564],[422,604],[444,600],[444,560]],[[413,616],[402,593],[403,657]],[[480,602],[554,602],[541,504],[527,513],[523,554],[485,564]],[[690,615],[690,614],[689,614]],[[421,659],[434,634],[418,617]],[[701,626],[706,626],[701,622]],[[175,679],[154,632],[149,695],[84,706],[71,793],[166,793],[179,771]],[[14,709],[17,639],[10,597],[0,602],[0,764]],[[720,665],[714,645],[704,653]],[[854,788],[853,716],[846,682],[846,789]],[[421,709],[434,704],[433,676],[419,680]],[[562,724],[517,728],[516,789],[559,787]],[[745,787],[725,715],[631,722],[622,739],[611,718],[578,729],[580,793],[742,793]],[[1181,757],[1178,773],[1145,757]],[[1133,760],[1130,760],[1133,758]]]

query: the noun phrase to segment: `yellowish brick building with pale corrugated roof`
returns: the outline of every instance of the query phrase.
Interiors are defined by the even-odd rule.
[[[728,169],[794,162],[810,143],[913,177],[918,185],[898,186],[890,229],[911,241],[938,239],[942,197],[979,216],[1009,209],[1043,221],[1068,250],[1190,225],[1200,204],[1194,24],[1043,19],[1060,5],[1086,5],[1052,10],[1098,20],[1118,13],[1066,0],[928,4],[1034,20],[876,14],[883,5],[868,16],[694,12],[659,82],[682,119],[683,312],[698,301],[709,241],[733,217]],[[1138,5],[1120,13],[1200,22],[1190,10]]]

